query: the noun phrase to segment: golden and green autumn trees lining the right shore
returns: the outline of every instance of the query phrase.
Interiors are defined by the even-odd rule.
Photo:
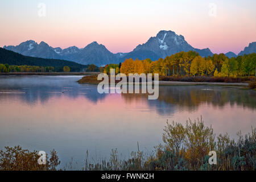
[[[231,57],[224,53],[201,57],[195,51],[179,52],[160,58],[156,61],[150,59],[126,59],[122,64],[109,64],[101,67],[100,71],[109,73],[114,68],[116,73],[158,73],[160,76],[214,76],[214,77],[245,77],[256,74],[256,53]]]

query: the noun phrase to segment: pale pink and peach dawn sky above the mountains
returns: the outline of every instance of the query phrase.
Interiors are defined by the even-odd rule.
[[[97,41],[111,52],[130,52],[160,30],[172,30],[195,48],[238,53],[256,41],[255,7],[255,0],[1,0],[0,47],[32,39],[83,48]]]

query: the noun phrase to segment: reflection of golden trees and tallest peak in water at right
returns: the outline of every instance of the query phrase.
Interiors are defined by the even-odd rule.
[[[126,102],[147,100],[146,94],[122,94]],[[159,114],[173,113],[176,108],[192,111],[202,104],[216,107],[241,106],[256,109],[256,92],[219,86],[159,86],[158,100],[147,100]]]

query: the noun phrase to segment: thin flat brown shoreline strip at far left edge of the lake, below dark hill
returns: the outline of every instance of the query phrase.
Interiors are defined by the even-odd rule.
[[[49,75],[49,76],[86,76],[97,75],[98,72],[9,72],[0,75]]]

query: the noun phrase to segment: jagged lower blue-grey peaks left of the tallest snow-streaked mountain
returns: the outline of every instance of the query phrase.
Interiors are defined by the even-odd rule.
[[[18,46],[4,46],[3,48],[24,56],[69,60],[84,65],[92,63],[105,65],[118,62],[117,56],[97,42],[92,42],[82,49],[76,46],[61,49],[60,47],[53,48],[44,42],[38,44],[34,40],[28,40]]]

